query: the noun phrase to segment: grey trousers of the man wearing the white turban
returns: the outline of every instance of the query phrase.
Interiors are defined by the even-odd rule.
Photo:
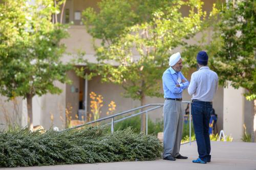
[[[177,157],[180,155],[180,142],[183,129],[182,102],[165,100],[163,106],[163,158],[168,155]]]

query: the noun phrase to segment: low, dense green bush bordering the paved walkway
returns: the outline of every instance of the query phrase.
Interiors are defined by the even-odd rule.
[[[70,131],[26,129],[0,133],[0,167],[154,160],[162,144],[154,136],[134,133],[131,128],[103,133],[100,126]]]

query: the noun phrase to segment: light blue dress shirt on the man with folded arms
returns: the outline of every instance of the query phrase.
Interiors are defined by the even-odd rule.
[[[189,85],[189,82],[182,75],[181,71],[176,72],[172,67],[169,67],[164,71],[162,79],[164,98],[182,98],[182,91]],[[181,82],[183,79],[185,80],[184,83]],[[180,87],[177,87],[177,84],[179,84]]]

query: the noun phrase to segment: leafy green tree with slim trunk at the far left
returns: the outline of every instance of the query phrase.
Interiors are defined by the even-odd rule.
[[[54,81],[68,82],[69,65],[59,59],[66,26],[53,24],[58,12],[51,0],[8,0],[0,4],[0,93],[9,99],[27,99],[28,126],[33,130],[32,98],[60,93]]]

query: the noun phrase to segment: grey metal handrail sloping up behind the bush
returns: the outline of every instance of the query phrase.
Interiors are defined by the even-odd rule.
[[[189,107],[189,144],[191,145],[191,101],[182,101],[182,103],[189,103],[190,104],[190,107]],[[144,111],[140,111],[139,113],[135,113],[135,114],[132,114],[132,115],[120,118],[118,120],[115,120],[116,116],[120,116],[120,115],[123,115],[123,114],[126,114],[126,113],[130,113],[130,112],[133,112],[133,111],[145,108],[145,107],[150,107],[150,106],[156,106],[156,107],[153,107],[153,108],[150,108],[150,109],[147,109],[147,110],[144,110]],[[127,110],[127,111],[124,111],[124,112],[121,112],[121,113],[117,113],[117,114],[111,115],[111,116],[99,118],[97,120],[94,120],[94,121],[91,121],[91,122],[88,122],[88,123],[85,123],[85,124],[82,124],[82,125],[74,126],[72,128],[69,128],[69,129],[64,129],[64,130],[61,130],[59,132],[80,128],[80,127],[83,127],[83,126],[86,126],[86,125],[94,124],[94,123],[101,122],[103,120],[111,118],[111,123],[107,123],[105,125],[110,125],[111,124],[111,133],[113,133],[114,132],[114,124],[115,123],[121,122],[122,120],[125,120],[125,119],[130,118],[130,117],[134,117],[134,116],[137,116],[137,115],[140,115],[140,114],[146,114],[146,135],[147,135],[147,120],[148,120],[147,113],[149,111],[156,110],[156,109],[159,109],[161,107],[163,107],[163,104],[147,104],[147,105],[140,106],[140,107],[137,107],[137,108],[134,108],[134,109],[130,109],[130,110]]]

